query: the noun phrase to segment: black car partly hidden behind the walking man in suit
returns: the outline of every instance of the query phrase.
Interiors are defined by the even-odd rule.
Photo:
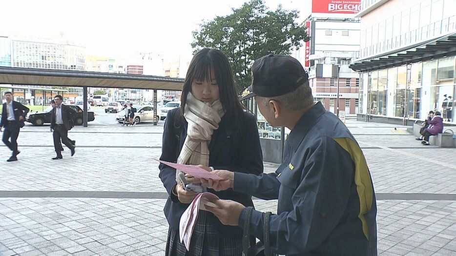
[[[83,125],[83,110],[77,105],[67,105],[76,111],[74,125]],[[35,126],[42,126],[45,123],[51,123],[52,106],[47,107],[44,111],[28,112],[25,121],[32,123]],[[95,120],[93,112],[87,112],[87,121]]]

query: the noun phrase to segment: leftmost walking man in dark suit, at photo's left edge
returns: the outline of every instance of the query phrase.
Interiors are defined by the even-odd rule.
[[[29,109],[21,103],[13,100],[13,93],[6,92],[4,94],[6,102],[3,103],[1,110],[0,132],[1,128],[5,127],[3,132],[3,143],[13,151],[13,155],[7,160],[8,162],[17,161],[17,155],[21,153],[18,150],[19,130],[24,126],[24,119]],[[11,139],[9,141],[8,139]]]

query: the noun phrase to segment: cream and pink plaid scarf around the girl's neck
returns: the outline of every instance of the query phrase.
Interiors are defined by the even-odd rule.
[[[184,118],[187,120],[187,138],[181,153],[177,158],[179,164],[209,165],[209,142],[214,130],[219,128],[219,122],[225,111],[220,99],[212,104],[196,99],[191,93],[187,95]],[[176,170],[176,180],[180,170]]]

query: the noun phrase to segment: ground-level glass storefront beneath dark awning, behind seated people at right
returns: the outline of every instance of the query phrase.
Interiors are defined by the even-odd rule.
[[[422,120],[433,110],[456,124],[455,66],[451,56],[363,73],[359,113]]]

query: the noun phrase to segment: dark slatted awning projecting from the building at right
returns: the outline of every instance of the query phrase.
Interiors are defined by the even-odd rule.
[[[350,68],[367,72],[453,55],[456,55],[456,33],[383,56],[360,59],[350,64]]]

